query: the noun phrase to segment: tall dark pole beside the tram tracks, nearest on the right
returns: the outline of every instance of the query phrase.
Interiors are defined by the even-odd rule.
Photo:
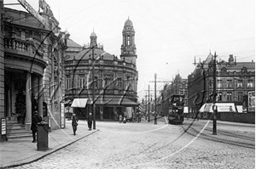
[[[214,59],[213,59],[213,124],[212,124],[212,134],[217,135],[217,106],[216,106],[216,52],[214,53]]]

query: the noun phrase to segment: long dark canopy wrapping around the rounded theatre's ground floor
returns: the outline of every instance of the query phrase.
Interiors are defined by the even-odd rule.
[[[92,99],[88,99],[87,104],[92,104]],[[123,98],[121,96],[113,97],[99,97],[96,99],[96,105],[109,105],[109,106],[125,106],[125,107],[137,107],[139,104],[131,101],[131,99]]]

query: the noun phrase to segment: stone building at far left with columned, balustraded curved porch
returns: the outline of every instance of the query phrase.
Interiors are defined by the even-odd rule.
[[[27,13],[0,4],[0,117],[30,131],[38,110],[45,121],[52,119],[52,130],[63,127],[65,33],[49,8],[38,13],[21,1]]]

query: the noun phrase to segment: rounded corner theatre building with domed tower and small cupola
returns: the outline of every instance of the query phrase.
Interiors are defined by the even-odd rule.
[[[86,119],[92,112],[94,91],[97,120],[115,120],[120,114],[132,117],[137,107],[136,59],[135,31],[129,19],[125,21],[120,59],[104,51],[103,45],[97,43],[94,31],[90,35],[90,44],[67,48],[67,103],[71,105],[73,99],[88,99],[85,107],[74,107],[73,112],[80,119]]]

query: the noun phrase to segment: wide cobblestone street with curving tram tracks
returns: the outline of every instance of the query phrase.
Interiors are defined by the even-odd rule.
[[[193,129],[184,132],[190,122],[174,126],[166,125],[164,120],[157,125],[146,121],[97,121],[99,132],[15,168],[255,168],[255,127],[233,127],[233,132],[219,130],[213,137],[210,124],[202,131],[206,125],[202,121],[195,121]],[[236,137],[231,137],[235,132]]]

